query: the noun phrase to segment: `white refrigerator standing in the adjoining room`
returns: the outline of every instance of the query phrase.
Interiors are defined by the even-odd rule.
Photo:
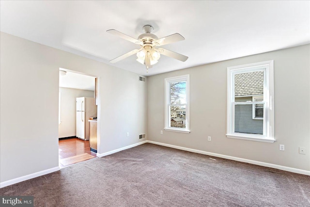
[[[89,117],[97,117],[97,106],[92,97],[77,98],[77,137],[89,140]]]

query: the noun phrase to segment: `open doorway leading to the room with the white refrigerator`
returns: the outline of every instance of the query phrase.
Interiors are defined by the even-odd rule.
[[[95,77],[76,71],[60,68],[59,76],[59,167],[67,167],[81,161],[93,159],[96,153],[91,151],[89,141],[89,119],[97,118],[95,106]],[[93,113],[77,111],[77,98],[85,98],[86,106]],[[95,108],[95,111],[94,111]],[[82,115],[82,124],[80,118]],[[79,115],[79,116],[78,116]],[[79,119],[77,119],[79,117]],[[78,122],[79,121],[79,122]],[[77,128],[78,127],[78,128]],[[82,128],[81,128],[82,127]],[[78,129],[78,130],[77,130]],[[77,135],[77,131],[79,134]],[[85,136],[81,136],[83,131]],[[78,136],[78,137],[77,137]]]

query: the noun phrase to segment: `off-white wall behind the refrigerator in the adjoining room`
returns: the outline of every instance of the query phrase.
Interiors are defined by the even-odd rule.
[[[94,97],[94,91],[59,87],[61,93],[61,124],[58,137],[76,136],[76,98]]]

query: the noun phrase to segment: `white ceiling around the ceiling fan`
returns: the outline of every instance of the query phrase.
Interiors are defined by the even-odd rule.
[[[184,41],[163,48],[188,56],[181,62],[161,56],[146,73],[132,55],[139,45],[106,32],[137,38],[151,24],[158,38],[180,33]],[[0,1],[0,30],[141,75],[310,43],[310,1],[105,0]]]

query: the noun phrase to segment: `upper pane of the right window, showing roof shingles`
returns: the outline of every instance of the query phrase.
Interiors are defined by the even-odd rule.
[[[234,97],[263,95],[263,70],[234,75]]]

